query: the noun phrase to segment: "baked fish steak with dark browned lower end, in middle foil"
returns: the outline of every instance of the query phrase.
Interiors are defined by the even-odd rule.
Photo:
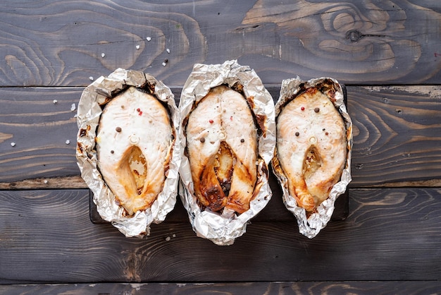
[[[248,210],[256,185],[257,131],[244,97],[227,86],[212,88],[185,130],[199,203],[213,211]]]

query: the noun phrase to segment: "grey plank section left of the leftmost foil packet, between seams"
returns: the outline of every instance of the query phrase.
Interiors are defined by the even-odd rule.
[[[81,92],[77,88],[0,90],[2,182],[80,173],[75,159],[76,111],[71,109],[73,104],[76,109]]]

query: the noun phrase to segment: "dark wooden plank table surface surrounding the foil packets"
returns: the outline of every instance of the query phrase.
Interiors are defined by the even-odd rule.
[[[441,290],[441,2],[281,2],[2,2],[0,294]],[[180,202],[147,239],[92,223],[71,110],[85,86],[134,69],[178,100],[193,64],[229,59],[274,100],[297,75],[347,85],[347,217],[307,239],[271,176],[271,202],[232,246],[198,238]]]

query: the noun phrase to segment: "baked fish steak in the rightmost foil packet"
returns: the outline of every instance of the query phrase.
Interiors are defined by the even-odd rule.
[[[282,108],[276,157],[290,195],[314,212],[340,181],[347,157],[344,121],[327,95],[308,88]]]

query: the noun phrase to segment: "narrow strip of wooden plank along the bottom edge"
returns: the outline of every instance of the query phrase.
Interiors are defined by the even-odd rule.
[[[107,284],[10,284],[0,285],[0,293],[26,294],[437,294],[441,282],[246,282],[246,283],[107,283]]]

